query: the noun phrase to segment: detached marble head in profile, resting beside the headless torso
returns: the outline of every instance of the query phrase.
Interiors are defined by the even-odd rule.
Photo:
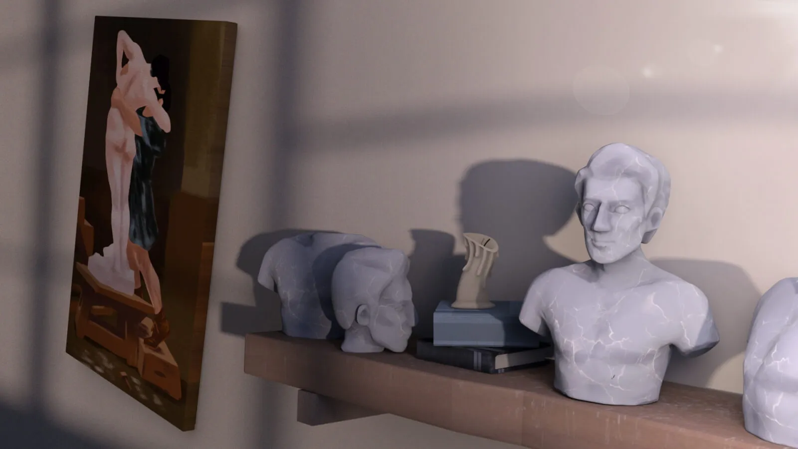
[[[345,352],[402,352],[418,317],[407,280],[409,260],[389,248],[347,252],[333,273],[333,306],[346,329]]]

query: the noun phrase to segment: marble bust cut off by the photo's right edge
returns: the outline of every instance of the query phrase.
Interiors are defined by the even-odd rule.
[[[754,312],[743,364],[745,430],[798,447],[798,278],[780,280]]]

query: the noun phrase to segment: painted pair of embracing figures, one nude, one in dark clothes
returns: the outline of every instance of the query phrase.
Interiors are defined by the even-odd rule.
[[[158,235],[152,169],[156,157],[164,151],[166,134],[171,131],[168,74],[167,58],[156,56],[148,63],[128,34],[119,32],[117,87],[111,95],[105,131],[113,242],[103,248],[102,255],[89,257],[93,276],[119,292],[132,294],[144,277],[157,314],[151,338],[168,333],[160,280],[149,259],[149,250]]]

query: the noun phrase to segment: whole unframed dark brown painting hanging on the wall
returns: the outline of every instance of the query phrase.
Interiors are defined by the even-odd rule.
[[[194,428],[236,26],[94,22],[66,352]]]

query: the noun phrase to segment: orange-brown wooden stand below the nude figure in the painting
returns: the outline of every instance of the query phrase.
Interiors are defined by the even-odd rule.
[[[81,260],[94,252],[94,230],[85,220],[85,200],[77,206],[77,239]],[[85,256],[85,257],[84,257]],[[156,348],[144,343],[138,329],[155,315],[152,304],[136,295],[128,295],[101,284],[86,264],[76,261],[80,281],[73,290],[80,295],[75,312],[77,338],[88,338],[136,367],[141,379],[166,391],[176,400],[182,397],[180,370],[165,341]]]

